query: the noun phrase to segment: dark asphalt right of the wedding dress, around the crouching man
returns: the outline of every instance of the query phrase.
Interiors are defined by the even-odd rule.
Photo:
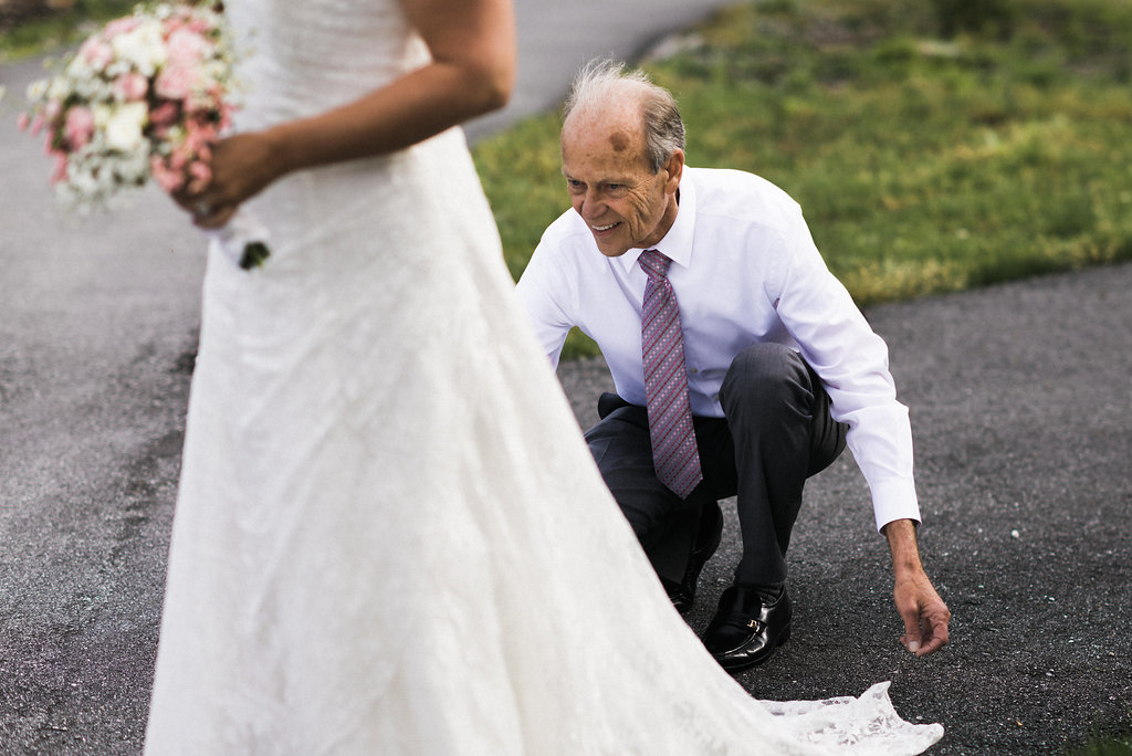
[[[790,642],[738,679],[825,698],[892,680],[898,711],[942,722],[932,754],[1061,754],[1132,731],[1132,265],[871,308],[911,413],[925,566],[951,643],[898,643],[887,547],[847,453],[813,478],[788,555]],[[583,424],[600,360],[563,381]],[[703,629],[739,558],[734,501],[701,577]]]

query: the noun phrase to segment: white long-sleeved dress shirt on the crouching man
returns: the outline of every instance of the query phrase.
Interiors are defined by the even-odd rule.
[[[685,167],[676,221],[653,248],[672,258],[693,414],[723,416],[719,389],[746,346],[796,349],[849,426],[877,529],[919,521],[908,409],[897,402],[887,347],[825,267],[798,204],[751,173]],[[601,347],[617,393],[644,406],[642,251],[603,256],[569,209],[543,233],[517,293],[555,367],[577,326]]]

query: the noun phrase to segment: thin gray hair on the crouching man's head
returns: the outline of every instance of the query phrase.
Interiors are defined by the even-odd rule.
[[[578,71],[571,87],[563,120],[576,110],[602,105],[624,92],[618,85],[638,85],[641,117],[644,120],[645,158],[653,173],[664,166],[677,149],[684,149],[684,121],[676,98],[664,87],[652,83],[640,68],[628,69],[616,60],[592,60]],[[616,87],[616,88],[615,88]]]

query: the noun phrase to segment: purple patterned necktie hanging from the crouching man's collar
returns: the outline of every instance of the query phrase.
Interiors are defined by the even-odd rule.
[[[649,276],[641,318],[641,351],[652,458],[660,482],[684,499],[703,480],[703,474],[688,405],[680,309],[668,282],[668,266],[672,260],[649,249],[637,261]]]

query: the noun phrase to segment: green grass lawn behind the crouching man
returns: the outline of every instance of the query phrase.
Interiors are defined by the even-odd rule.
[[[1132,0],[764,0],[644,67],[688,163],[786,189],[863,306],[1132,258]],[[516,276],[558,124],[474,151]]]

